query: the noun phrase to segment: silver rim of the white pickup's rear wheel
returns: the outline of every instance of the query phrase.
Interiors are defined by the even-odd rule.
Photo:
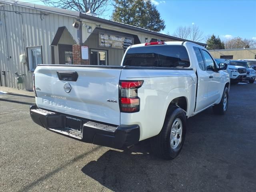
[[[182,139],[182,121],[180,118],[176,118],[172,124],[171,135],[170,135],[170,145],[172,149],[179,146]]]

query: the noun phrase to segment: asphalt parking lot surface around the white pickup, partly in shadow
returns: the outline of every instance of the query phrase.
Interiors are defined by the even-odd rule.
[[[34,98],[0,99],[2,192],[256,191],[256,84],[231,86],[225,116],[190,118],[172,161],[154,157],[147,140],[123,151],[50,132],[30,118]]]

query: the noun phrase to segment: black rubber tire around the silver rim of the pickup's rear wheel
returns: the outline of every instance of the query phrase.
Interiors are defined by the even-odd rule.
[[[179,138],[179,142],[177,142],[178,144],[176,148],[174,148],[174,147],[171,147],[171,130],[174,123],[176,123],[177,121],[182,124],[182,126],[180,127],[181,136]],[[177,127],[177,130],[178,130],[178,127]],[[178,137],[179,135],[177,132],[175,132],[175,134]],[[178,154],[182,149],[185,136],[186,136],[186,114],[184,110],[182,110],[181,108],[172,106],[166,114],[166,118],[164,120],[164,125],[162,127],[161,132],[157,136],[154,136],[153,138],[151,138],[150,140],[152,152],[158,157],[166,160],[174,159],[178,156]],[[174,143],[175,142],[173,142],[173,144]]]

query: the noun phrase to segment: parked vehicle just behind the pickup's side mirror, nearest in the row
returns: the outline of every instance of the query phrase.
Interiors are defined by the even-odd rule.
[[[227,72],[230,76],[230,83],[236,84],[242,82],[246,78],[246,68],[230,65],[230,60],[226,59],[215,59],[215,61],[218,65],[220,65],[220,63],[228,64]]]

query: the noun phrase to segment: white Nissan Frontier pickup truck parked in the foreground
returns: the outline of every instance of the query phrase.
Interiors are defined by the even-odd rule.
[[[187,118],[228,108],[230,77],[191,42],[130,46],[121,66],[39,65],[32,120],[83,142],[122,148],[151,138],[152,151],[175,158]]]

